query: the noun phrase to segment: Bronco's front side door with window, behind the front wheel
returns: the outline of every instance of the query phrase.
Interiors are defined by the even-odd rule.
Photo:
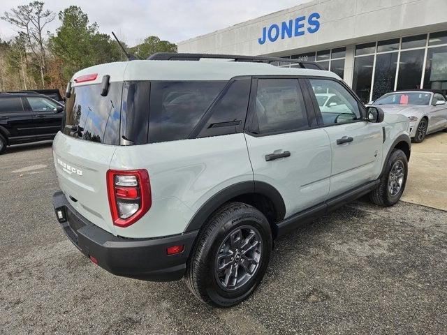
[[[365,121],[365,110],[337,80],[309,79],[318,123],[328,133],[332,149],[329,198],[379,177],[382,160],[381,124]],[[332,104],[318,106],[314,94],[335,94]]]

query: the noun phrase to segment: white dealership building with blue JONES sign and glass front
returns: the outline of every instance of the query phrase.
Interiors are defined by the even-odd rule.
[[[185,40],[178,52],[317,61],[365,103],[396,89],[446,92],[447,0],[315,0]]]

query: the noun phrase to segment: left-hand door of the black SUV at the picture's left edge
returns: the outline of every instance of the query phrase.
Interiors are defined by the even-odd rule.
[[[9,133],[11,144],[31,142],[36,137],[31,112],[24,110],[22,98],[0,98],[0,126]]]

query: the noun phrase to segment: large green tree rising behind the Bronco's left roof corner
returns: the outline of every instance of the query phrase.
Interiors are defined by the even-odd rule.
[[[96,22],[89,24],[81,8],[66,8],[59,13],[59,20],[62,24],[50,36],[50,49],[63,61],[62,75],[67,81],[82,68],[120,59],[117,44],[107,34],[99,33]]]

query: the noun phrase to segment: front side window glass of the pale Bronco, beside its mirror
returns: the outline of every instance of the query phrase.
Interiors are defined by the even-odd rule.
[[[323,124],[346,124],[362,119],[356,99],[334,80],[310,79]],[[323,103],[327,101],[326,103]]]

